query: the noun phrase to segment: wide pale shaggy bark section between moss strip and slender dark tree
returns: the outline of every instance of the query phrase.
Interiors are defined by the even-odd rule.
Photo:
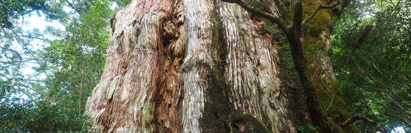
[[[221,3],[227,35],[226,76],[234,108],[249,113],[274,133],[296,132],[286,118],[286,93],[277,77],[278,55],[271,35],[236,4]],[[273,8],[275,9],[275,8]]]

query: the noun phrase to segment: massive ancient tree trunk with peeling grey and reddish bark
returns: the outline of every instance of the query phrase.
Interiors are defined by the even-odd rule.
[[[262,1],[272,15],[292,20],[290,3]],[[307,16],[316,5],[305,4]],[[307,51],[307,71],[321,107],[332,105],[327,115],[342,115],[341,124],[347,114],[329,54],[337,14],[321,13],[313,19],[321,23],[307,24],[316,33],[306,34],[304,48],[327,54]],[[263,32],[269,22],[219,0],[134,0],[113,17],[106,66],[85,111],[103,133],[296,133],[296,126],[321,124],[307,104],[316,99],[307,102],[296,69],[284,65],[291,58],[279,51],[285,34]]]

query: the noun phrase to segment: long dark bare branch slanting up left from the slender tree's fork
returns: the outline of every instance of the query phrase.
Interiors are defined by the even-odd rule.
[[[245,10],[247,10],[251,13],[254,13],[258,16],[261,16],[263,18],[266,18],[266,19],[270,20],[270,22],[273,22],[273,23],[277,24],[279,29],[286,32],[286,25],[277,16],[274,16],[274,15],[272,15],[270,13],[267,13],[265,11],[262,11],[260,9],[256,9],[255,7],[251,7],[247,3],[245,3],[243,0],[221,0],[221,1],[222,2],[229,2],[229,3],[236,3],[236,4],[240,5],[242,8],[244,8]]]

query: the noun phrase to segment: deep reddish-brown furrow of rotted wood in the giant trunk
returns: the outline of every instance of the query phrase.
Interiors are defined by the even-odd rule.
[[[182,3],[175,5],[174,11],[182,11]],[[183,14],[184,12],[180,12]],[[178,17],[178,16],[177,16]],[[180,16],[179,20],[170,20],[170,22],[178,23],[180,20],[184,22],[184,16]],[[182,24],[182,23],[181,23]],[[176,27],[177,37],[171,41],[163,40],[163,43],[170,43],[159,46],[159,72],[157,78],[155,93],[155,126],[156,133],[181,133],[181,100],[183,96],[184,82],[181,74],[182,60],[185,58],[186,38],[185,25]]]

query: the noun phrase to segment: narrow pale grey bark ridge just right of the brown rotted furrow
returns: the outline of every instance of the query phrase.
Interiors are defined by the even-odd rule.
[[[199,118],[204,109],[204,91],[208,87],[206,73],[212,62],[212,0],[185,0],[185,35],[187,53],[182,65],[184,99],[182,100],[182,131],[199,133]]]

